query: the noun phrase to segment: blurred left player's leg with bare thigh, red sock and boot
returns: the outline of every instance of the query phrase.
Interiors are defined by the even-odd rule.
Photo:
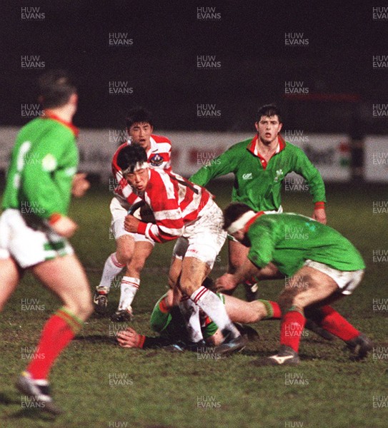
[[[49,371],[91,314],[91,292],[86,274],[75,255],[48,260],[31,267],[41,282],[64,303],[44,325],[39,344],[16,386],[37,397],[47,411],[59,413],[49,394]],[[42,356],[44,356],[42,358]]]

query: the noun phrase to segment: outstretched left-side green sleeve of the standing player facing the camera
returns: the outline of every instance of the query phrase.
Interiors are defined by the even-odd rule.
[[[214,158],[210,165],[205,165],[197,170],[197,173],[191,175],[189,181],[205,187],[213,178],[232,173],[238,159],[237,155],[236,147],[232,146],[220,156]]]

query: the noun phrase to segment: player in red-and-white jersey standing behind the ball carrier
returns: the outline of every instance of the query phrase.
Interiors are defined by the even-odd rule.
[[[126,118],[126,131],[128,141],[116,150],[111,163],[114,178],[119,183],[114,189],[114,198],[110,205],[111,231],[116,240],[116,252],[106,259],[101,281],[94,293],[94,310],[104,314],[108,305],[107,295],[111,282],[126,267],[120,284],[119,307],[111,316],[112,321],[118,322],[131,320],[131,303],[136,291],[139,290],[140,273],[154,248],[154,241],[139,233],[129,233],[124,230],[124,218],[131,205],[139,201],[139,198],[121,174],[117,158],[123,148],[129,144],[137,144],[146,151],[147,162],[152,168],[171,170],[171,142],[166,137],[152,134],[154,127],[149,111],[144,108],[133,108],[129,111]]]

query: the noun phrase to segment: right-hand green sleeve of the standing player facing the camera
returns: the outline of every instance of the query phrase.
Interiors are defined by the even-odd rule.
[[[295,147],[296,156],[296,167],[294,171],[306,180],[309,186],[309,191],[312,194],[312,200],[314,203],[326,202],[326,193],[324,189],[324,180],[319,173],[319,170],[315,168],[306,154],[300,149]]]

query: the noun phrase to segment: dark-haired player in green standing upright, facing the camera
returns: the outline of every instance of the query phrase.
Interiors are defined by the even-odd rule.
[[[274,105],[259,108],[254,126],[257,135],[252,140],[234,144],[212,163],[191,175],[189,180],[206,186],[213,178],[234,173],[233,202],[246,203],[257,212],[282,213],[282,181],[288,173],[295,172],[302,175],[312,193],[312,218],[326,224],[326,196],[322,177],[300,148],[280,136],[282,116],[279,108]],[[247,259],[248,250],[236,240],[229,239],[228,244],[228,272],[234,273]],[[254,300],[257,285],[247,278],[244,286],[247,299]]]

